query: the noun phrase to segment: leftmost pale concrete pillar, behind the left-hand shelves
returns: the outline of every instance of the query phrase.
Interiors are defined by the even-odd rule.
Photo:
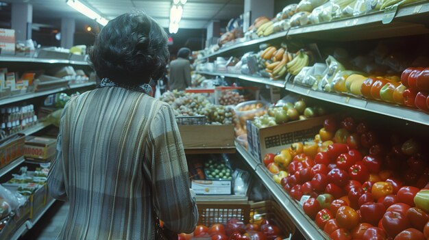
[[[12,29],[15,29],[15,40],[32,39],[33,5],[29,3],[12,3]]]

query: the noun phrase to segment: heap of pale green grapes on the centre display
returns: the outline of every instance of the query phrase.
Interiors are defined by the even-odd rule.
[[[232,124],[232,108],[212,104],[203,94],[174,90],[164,92],[160,101],[169,103],[175,116],[206,116],[209,124]]]

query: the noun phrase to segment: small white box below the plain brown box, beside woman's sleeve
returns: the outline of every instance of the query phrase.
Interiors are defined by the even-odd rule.
[[[231,180],[193,180],[191,188],[197,195],[231,195]]]

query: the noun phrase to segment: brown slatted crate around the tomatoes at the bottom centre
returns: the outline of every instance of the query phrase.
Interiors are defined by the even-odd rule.
[[[245,224],[260,224],[262,218],[272,219],[281,230],[284,237],[293,235],[295,225],[280,208],[277,202],[271,200],[250,203],[204,203],[197,204],[198,224],[211,226],[212,224],[226,224],[228,219],[235,217]]]

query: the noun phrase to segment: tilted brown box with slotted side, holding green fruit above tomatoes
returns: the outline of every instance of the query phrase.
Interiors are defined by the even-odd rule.
[[[247,120],[247,151],[258,161],[269,152],[280,152],[294,142],[304,142],[315,137],[323,127],[326,116],[286,122],[265,129],[258,129]]]

